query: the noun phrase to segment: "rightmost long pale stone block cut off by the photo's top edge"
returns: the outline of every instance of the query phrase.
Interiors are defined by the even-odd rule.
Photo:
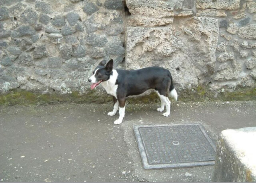
[[[236,10],[240,7],[240,0],[197,0],[196,8],[214,8],[218,10]]]

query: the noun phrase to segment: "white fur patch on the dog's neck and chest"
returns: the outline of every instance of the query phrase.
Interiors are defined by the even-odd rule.
[[[110,95],[113,95],[116,98],[117,98],[116,91],[118,88],[118,85],[116,85],[117,76],[118,76],[117,71],[113,70],[113,75],[110,76],[109,80],[101,83],[103,88],[106,90],[106,92]]]

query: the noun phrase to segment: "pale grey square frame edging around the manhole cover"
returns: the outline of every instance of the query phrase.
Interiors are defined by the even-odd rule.
[[[146,149],[144,147],[144,143],[142,140],[142,137],[140,135],[139,128],[140,127],[164,127],[164,126],[179,126],[179,125],[197,125],[199,129],[202,131],[204,137],[206,137],[206,140],[210,143],[211,147],[214,149],[214,152],[216,152],[216,147],[214,143],[212,142],[212,139],[208,136],[206,131],[204,130],[204,127],[200,123],[190,123],[190,124],[160,124],[160,125],[133,125],[134,134],[136,137],[136,141],[138,144],[138,149],[140,151],[140,157],[142,160],[142,164],[144,169],[172,169],[172,168],[186,168],[186,167],[196,167],[196,166],[205,166],[205,165],[214,165],[215,160],[211,161],[198,161],[198,162],[189,162],[189,163],[165,163],[165,164],[155,164],[150,165],[148,164],[148,158],[146,155]]]

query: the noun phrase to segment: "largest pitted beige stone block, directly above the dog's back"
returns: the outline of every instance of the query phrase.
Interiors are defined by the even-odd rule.
[[[194,17],[178,23],[179,30],[127,27],[126,68],[164,67],[180,85],[197,84],[198,76],[204,80],[200,76],[214,70],[218,19]]]

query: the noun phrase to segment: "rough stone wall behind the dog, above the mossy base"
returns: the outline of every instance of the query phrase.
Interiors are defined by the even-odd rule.
[[[1,0],[0,93],[86,93],[101,61],[168,68],[180,92],[256,86],[254,0]]]

